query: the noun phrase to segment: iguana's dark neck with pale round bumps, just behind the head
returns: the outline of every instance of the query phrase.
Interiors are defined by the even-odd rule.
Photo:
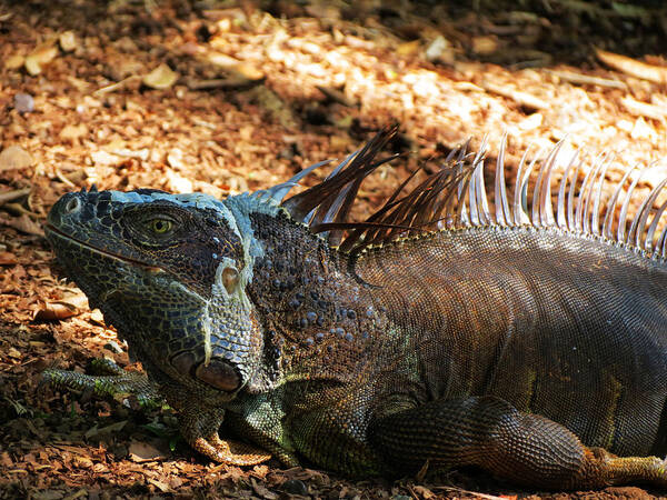
[[[250,213],[263,256],[248,293],[265,329],[265,356],[285,380],[360,379],[387,329],[386,310],[347,270],[344,254],[282,211]]]

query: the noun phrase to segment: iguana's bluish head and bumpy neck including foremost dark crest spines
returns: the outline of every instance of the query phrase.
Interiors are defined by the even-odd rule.
[[[217,401],[286,377],[355,377],[381,326],[338,259],[339,231],[315,227],[345,222],[394,132],[287,200],[319,164],[225,200],[146,189],[68,193],[49,213],[47,238],[149,374],[159,370]]]

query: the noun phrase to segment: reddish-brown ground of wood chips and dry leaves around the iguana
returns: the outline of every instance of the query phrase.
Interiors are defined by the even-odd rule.
[[[129,364],[43,239],[51,204],[93,182],[225,197],[340,158],[395,121],[391,147],[409,154],[365,183],[358,217],[468,137],[488,134],[492,159],[505,131],[510,167],[569,134],[616,153],[611,180],[656,160],[643,187],[667,174],[661,2],[470,3],[0,1],[0,498],[570,496],[470,471],[390,482],[218,466],[169,411],[39,387],[53,363]]]

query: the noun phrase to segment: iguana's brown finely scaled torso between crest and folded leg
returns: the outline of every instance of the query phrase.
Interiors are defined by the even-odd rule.
[[[414,338],[419,403],[491,394],[621,456],[664,456],[667,268],[557,229],[469,228],[370,250],[361,279]]]

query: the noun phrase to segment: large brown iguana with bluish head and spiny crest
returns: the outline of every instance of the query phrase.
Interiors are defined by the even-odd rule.
[[[639,170],[603,196],[610,158],[583,176],[575,153],[556,182],[557,146],[506,182],[504,141],[488,193],[485,148],[462,147],[349,221],[395,133],[290,198],[320,164],[223,200],[64,194],[47,237],[150,383],[118,368],[47,380],[157,387],[185,439],[220,462],[667,487],[667,202],[655,208],[667,179],[630,218]]]

